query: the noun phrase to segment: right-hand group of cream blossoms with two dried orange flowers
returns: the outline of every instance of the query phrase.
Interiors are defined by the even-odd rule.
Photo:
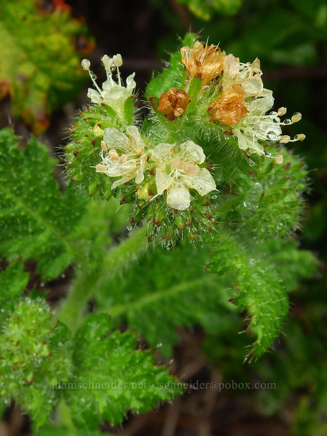
[[[198,41],[192,48],[182,47],[181,54],[188,80],[200,78],[203,91],[210,83],[219,85],[218,96],[208,106],[209,120],[222,130],[231,129],[241,150],[265,155],[262,141],[287,143],[305,139],[305,135],[298,134],[291,140],[281,131],[281,126],[299,121],[300,113],[283,122],[280,116],[286,113],[285,108],[266,114],[272,109],[274,98],[264,88],[259,59],[242,63],[232,54],[221,52],[219,47]],[[280,156],[275,157],[275,162],[282,162]]]

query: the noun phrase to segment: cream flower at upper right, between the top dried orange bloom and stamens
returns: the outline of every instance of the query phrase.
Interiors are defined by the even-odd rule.
[[[224,72],[221,79],[223,89],[233,85],[242,85],[248,96],[259,95],[264,88],[260,61],[256,59],[252,63],[239,62],[231,53],[223,54]]]

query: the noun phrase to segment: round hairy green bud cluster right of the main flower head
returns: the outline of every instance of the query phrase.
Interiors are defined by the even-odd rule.
[[[256,165],[248,171],[228,174],[218,170],[218,178],[229,182],[220,201],[228,204],[234,198],[234,207],[227,220],[237,221],[248,232],[259,238],[285,236],[299,228],[303,209],[303,191],[307,189],[308,171],[304,162],[280,144],[266,148],[273,156],[282,154],[284,162],[275,165],[270,159],[252,157]],[[230,189],[231,195],[228,191]]]

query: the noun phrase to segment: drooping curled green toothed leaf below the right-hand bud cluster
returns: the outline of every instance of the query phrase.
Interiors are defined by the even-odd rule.
[[[252,358],[278,338],[288,312],[287,291],[294,290],[296,279],[310,277],[317,262],[310,252],[298,252],[293,241],[260,241],[224,228],[209,265],[229,278],[235,289],[231,300],[248,311],[247,331],[256,335],[247,356]]]

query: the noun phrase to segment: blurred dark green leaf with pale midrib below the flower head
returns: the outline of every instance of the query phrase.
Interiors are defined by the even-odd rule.
[[[98,309],[108,312],[115,325],[124,321],[136,328],[165,357],[179,341],[178,327],[224,328],[226,312],[236,308],[227,302],[223,280],[205,271],[206,251],[188,243],[169,255],[160,247],[148,248],[123,274],[108,277],[103,268],[93,288]]]

